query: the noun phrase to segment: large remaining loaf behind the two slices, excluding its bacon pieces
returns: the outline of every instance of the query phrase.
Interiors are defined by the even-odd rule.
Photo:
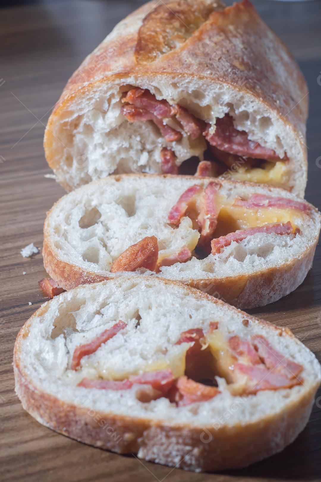
[[[217,175],[227,162],[223,175],[230,179],[269,183],[303,197],[307,85],[250,1],[225,7],[219,0],[154,0],[113,29],[72,75],[45,131],[46,159],[67,190],[109,174],[176,174],[193,156],[209,160],[205,136],[189,134],[180,116],[162,114],[156,124],[137,115],[128,120],[122,99],[134,88],[187,109],[203,127],[210,124],[211,134],[228,115],[234,134],[247,134],[247,149],[250,141],[274,151],[275,159],[236,149],[244,157],[222,164],[221,152]],[[162,123],[180,138],[166,140]],[[231,139],[223,141],[228,146],[219,148],[231,153]],[[173,156],[172,170],[162,165],[164,148]],[[249,156],[266,161],[251,168]]]

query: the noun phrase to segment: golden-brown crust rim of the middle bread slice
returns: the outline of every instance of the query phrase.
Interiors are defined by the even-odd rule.
[[[112,176],[116,181],[124,177],[172,177],[170,174],[118,174]],[[180,176],[182,177],[182,176]],[[185,179],[195,179],[194,176],[183,176]],[[212,178],[203,177],[204,182],[211,181]],[[102,182],[94,181],[92,184]],[[218,184],[230,184],[231,187],[241,184],[242,186],[257,187],[255,183],[238,183],[216,179]],[[275,188],[265,187],[266,193],[275,192]],[[58,201],[57,201],[58,202]],[[308,203],[307,203],[308,204]],[[55,205],[54,205],[55,206]],[[53,206],[53,208],[54,208]],[[316,212],[316,208],[310,204],[312,211]],[[53,209],[52,208],[52,209]],[[47,219],[43,228],[43,265],[47,273],[57,283],[66,290],[75,288],[80,284],[96,283],[98,281],[110,280],[113,276],[101,276],[92,271],[86,271],[82,268],[61,261],[55,254],[55,247],[50,243],[50,236],[47,233]],[[184,284],[196,288],[211,296],[222,299],[226,303],[230,303],[237,308],[250,309],[259,306],[265,306],[268,303],[277,301],[282,296],[288,295],[297,288],[306,278],[308,270],[312,266],[315,249],[318,243],[307,248],[300,257],[296,257],[288,263],[284,263],[281,267],[266,268],[251,274],[243,274],[238,276],[230,276],[226,278],[205,278],[205,279],[189,279],[182,281]]]

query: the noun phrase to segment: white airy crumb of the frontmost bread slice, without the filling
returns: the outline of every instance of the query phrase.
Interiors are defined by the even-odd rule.
[[[74,349],[91,341],[122,320],[127,327],[84,357],[79,370],[70,369]],[[139,323],[138,323],[139,321]],[[214,399],[176,407],[167,398],[140,402],[135,388],[98,390],[77,387],[83,379],[124,378],[153,370],[169,360],[171,367],[181,350],[175,345],[183,331],[209,329],[218,322],[224,338],[239,335],[244,341],[264,335],[284,357],[303,365],[303,384],[293,388],[263,390],[256,395],[232,396],[223,378],[221,393]],[[183,350],[183,351],[184,351]],[[173,356],[174,355],[174,356]],[[209,295],[171,281],[144,277],[118,277],[80,286],[45,303],[26,322],[17,337],[14,365],[34,388],[54,395],[62,402],[88,406],[99,413],[115,413],[168,424],[210,426],[221,419],[226,408],[237,403],[221,423],[255,422],[278,413],[297,397],[320,383],[320,365],[315,356],[287,328],[259,321]]]

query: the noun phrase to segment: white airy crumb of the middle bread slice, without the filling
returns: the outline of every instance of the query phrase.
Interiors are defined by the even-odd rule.
[[[183,217],[179,226],[173,228],[167,216],[188,187],[195,184],[206,187],[210,181],[210,178],[193,176],[124,174],[92,182],[53,206],[45,221],[44,242],[56,259],[102,276],[114,276],[110,273],[112,262],[146,236],[156,236],[160,253],[175,252],[186,245],[192,251],[199,234],[190,218]],[[256,184],[227,180],[217,184],[223,202],[233,202],[239,197],[247,199],[253,193],[297,199],[282,189]],[[273,214],[268,222],[289,220],[286,211],[282,218],[278,217],[276,208],[269,208],[268,213]],[[183,281],[223,279],[282,267],[304,257],[317,242],[320,214],[312,206],[307,214],[300,211],[290,214],[293,225],[301,229],[295,237],[256,233],[243,241],[233,241],[219,254],[209,254],[205,259],[193,257],[186,263],[162,267],[160,276]],[[266,221],[260,221],[262,215],[261,210],[256,226],[260,222],[265,224]],[[237,228],[243,228],[241,220],[239,227],[234,226],[231,231]],[[216,232],[213,237],[219,236]],[[142,271],[146,270],[142,268]]]

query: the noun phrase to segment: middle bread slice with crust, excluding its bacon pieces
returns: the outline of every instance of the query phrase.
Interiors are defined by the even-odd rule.
[[[242,241],[232,241],[217,254],[203,252],[200,259],[200,234],[192,214],[185,213],[176,226],[169,224],[168,214],[184,191],[192,186],[213,186],[211,182],[211,178],[194,176],[123,174],[76,189],[47,214],[42,251],[45,269],[65,289],[109,279],[117,276],[111,270],[122,253],[155,236],[159,260],[184,247],[193,257],[185,263],[162,266],[158,273],[138,267],[133,275],[146,273],[181,281],[238,308],[264,306],[289,294],[302,283],[312,265],[320,230],[319,212],[282,189],[217,180],[214,205],[219,214],[210,239],[238,229],[289,221],[300,233],[257,232]],[[282,197],[285,208],[233,205],[236,200],[257,194],[272,200]],[[293,202],[299,202],[304,210],[288,207]],[[129,269],[135,268],[124,268]]]

